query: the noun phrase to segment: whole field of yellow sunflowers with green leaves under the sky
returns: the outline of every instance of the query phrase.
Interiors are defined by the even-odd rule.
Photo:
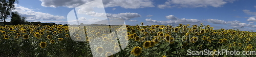
[[[188,50],[255,51],[256,33],[210,25],[0,27],[0,56],[256,56],[189,55]]]

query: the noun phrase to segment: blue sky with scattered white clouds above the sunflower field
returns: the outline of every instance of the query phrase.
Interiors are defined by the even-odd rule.
[[[200,24],[215,29],[255,31],[254,0],[23,0],[16,5],[27,21],[61,24]],[[9,21],[8,19],[7,21]],[[100,22],[101,21],[101,22]],[[241,28],[244,26],[244,28]]]

